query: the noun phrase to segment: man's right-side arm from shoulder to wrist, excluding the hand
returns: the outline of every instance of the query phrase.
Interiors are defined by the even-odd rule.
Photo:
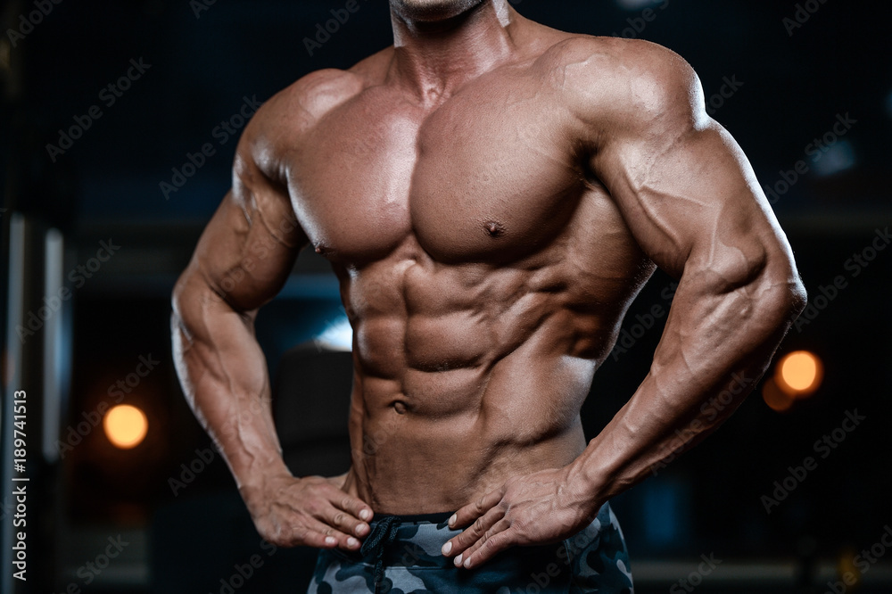
[[[792,252],[747,158],[706,116],[690,67],[649,46],[591,169],[641,248],[680,277],[650,372],[575,463],[599,503],[731,416],[805,304]],[[709,402],[728,390],[730,406]]]

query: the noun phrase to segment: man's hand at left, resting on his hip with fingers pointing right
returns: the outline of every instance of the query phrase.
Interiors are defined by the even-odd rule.
[[[260,536],[279,547],[357,550],[368,535],[372,509],[343,491],[344,476],[264,477],[243,494]]]

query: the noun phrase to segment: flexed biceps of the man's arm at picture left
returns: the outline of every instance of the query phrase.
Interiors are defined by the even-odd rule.
[[[306,240],[286,203],[243,196],[237,189],[227,194],[202,234],[193,265],[230,307],[251,311],[282,289]]]

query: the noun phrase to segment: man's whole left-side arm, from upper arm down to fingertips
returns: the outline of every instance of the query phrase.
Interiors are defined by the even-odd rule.
[[[178,375],[195,416],[235,476],[260,534],[280,545],[355,549],[371,509],[343,477],[295,479],[282,459],[266,360],[254,338],[261,305],[285,284],[307,239],[273,169],[261,111],[245,130],[232,190],[180,277],[171,331]],[[275,171],[272,172],[275,175]],[[359,519],[362,518],[362,519]]]

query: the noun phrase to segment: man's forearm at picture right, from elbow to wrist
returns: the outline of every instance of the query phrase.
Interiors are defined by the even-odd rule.
[[[731,291],[704,276],[682,276],[650,372],[572,465],[574,481],[599,504],[722,425],[801,308],[789,275],[763,272]]]

